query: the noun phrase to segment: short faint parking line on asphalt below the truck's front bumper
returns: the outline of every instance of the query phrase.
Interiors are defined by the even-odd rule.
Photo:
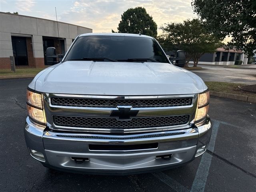
[[[189,190],[186,187],[184,187],[182,184],[179,184],[176,180],[170,178],[163,172],[152,173],[152,175],[154,175],[156,178],[158,178],[159,180],[161,180],[162,182],[164,182],[170,188],[177,192],[189,192]]]

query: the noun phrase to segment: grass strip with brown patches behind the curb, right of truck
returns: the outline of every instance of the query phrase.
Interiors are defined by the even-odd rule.
[[[208,89],[211,91],[256,97],[256,93],[243,91],[240,88],[238,88],[238,86],[243,84],[224,83],[224,82],[205,82],[205,84],[208,86]]]

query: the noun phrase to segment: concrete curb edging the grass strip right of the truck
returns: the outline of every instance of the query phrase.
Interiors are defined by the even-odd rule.
[[[252,96],[223,93],[223,92],[217,92],[217,91],[210,91],[210,95],[216,96],[216,97],[222,97],[222,98],[235,99],[235,100],[245,101],[250,103],[256,103],[256,98]]]

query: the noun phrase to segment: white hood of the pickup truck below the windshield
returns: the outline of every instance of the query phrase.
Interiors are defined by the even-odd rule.
[[[194,73],[168,63],[66,61],[40,72],[39,92],[87,95],[196,94],[207,89]]]

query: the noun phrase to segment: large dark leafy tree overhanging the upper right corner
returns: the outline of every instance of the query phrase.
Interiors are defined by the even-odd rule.
[[[226,48],[256,53],[255,0],[193,0],[192,7],[210,32],[232,38]]]

